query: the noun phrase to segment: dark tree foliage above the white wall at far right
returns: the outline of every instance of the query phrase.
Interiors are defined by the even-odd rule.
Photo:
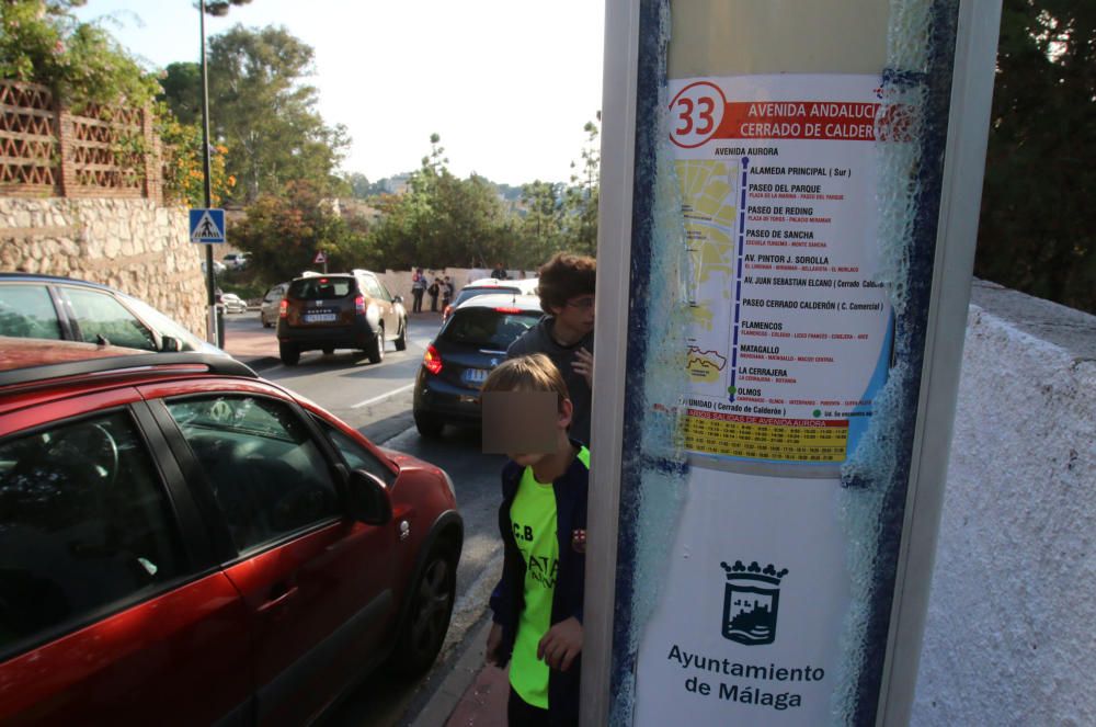
[[[974,272],[1096,310],[1096,4],[1005,0]]]

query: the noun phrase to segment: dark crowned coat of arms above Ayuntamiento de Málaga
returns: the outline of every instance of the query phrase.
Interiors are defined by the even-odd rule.
[[[719,564],[727,571],[723,591],[723,638],[746,646],[776,640],[776,616],[780,606],[780,580],[788,575],[772,564],[764,569],[754,560],[743,566]]]

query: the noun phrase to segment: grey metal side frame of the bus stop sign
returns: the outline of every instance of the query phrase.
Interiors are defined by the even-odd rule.
[[[597,359],[594,371],[592,482],[582,724],[628,724],[614,711],[621,678],[629,669],[625,629],[616,617],[619,597],[614,573],[620,566],[621,473],[624,467],[624,373],[628,370],[628,311],[631,305],[632,242],[641,230],[633,208],[637,158],[650,154],[650,139],[637,124],[650,118],[660,69],[651,31],[669,0],[620,0],[606,5],[602,130],[602,197],[597,285]],[[905,724],[913,703],[917,659],[928,603],[935,544],[946,479],[955,398],[959,383],[970,277],[993,90],[1001,0],[957,0],[958,32],[952,57],[949,126],[944,140],[935,255],[932,261],[927,323],[917,420],[912,427],[909,487],[902,513],[886,655],[878,673],[878,725]],[[950,11],[949,11],[950,12]],[[664,73],[664,70],[663,70]],[[664,81],[664,76],[662,77]],[[607,261],[613,261],[608,264]],[[627,503],[625,503],[627,504]],[[627,558],[625,558],[627,560]],[[626,597],[628,594],[625,594]],[[869,707],[870,709],[870,707]]]

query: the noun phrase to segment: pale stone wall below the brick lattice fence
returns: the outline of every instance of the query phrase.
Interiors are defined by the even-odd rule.
[[[0,270],[104,283],[205,338],[203,246],[187,211],[150,200],[0,197]]]

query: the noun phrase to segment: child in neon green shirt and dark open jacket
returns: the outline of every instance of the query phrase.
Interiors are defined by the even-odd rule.
[[[483,397],[484,445],[514,447],[502,470],[503,566],[487,661],[510,662],[510,727],[576,727],[590,451],[568,436],[571,399],[548,356],[503,362]]]

